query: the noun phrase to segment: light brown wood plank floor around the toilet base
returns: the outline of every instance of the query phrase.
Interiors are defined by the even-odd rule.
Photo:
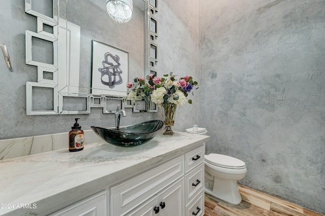
[[[204,216],[325,216],[299,205],[239,185],[242,202],[232,205],[206,194]]]

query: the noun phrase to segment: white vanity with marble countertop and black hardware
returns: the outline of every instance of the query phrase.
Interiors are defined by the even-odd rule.
[[[100,142],[74,153],[61,149],[6,159],[0,163],[0,203],[37,207],[0,209],[0,215],[203,216],[208,139],[160,133],[134,148]]]

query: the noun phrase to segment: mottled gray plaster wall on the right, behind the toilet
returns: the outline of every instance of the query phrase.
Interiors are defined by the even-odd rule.
[[[324,58],[323,0],[200,4],[207,153],[245,161],[241,184],[322,213]]]

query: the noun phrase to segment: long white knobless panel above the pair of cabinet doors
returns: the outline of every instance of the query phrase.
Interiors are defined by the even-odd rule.
[[[111,215],[123,215],[184,175],[184,156],[110,188]]]

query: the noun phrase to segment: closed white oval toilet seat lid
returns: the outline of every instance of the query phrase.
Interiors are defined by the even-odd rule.
[[[216,166],[224,167],[224,168],[243,169],[246,167],[244,161],[223,154],[205,155],[205,160],[208,163],[211,163]]]

